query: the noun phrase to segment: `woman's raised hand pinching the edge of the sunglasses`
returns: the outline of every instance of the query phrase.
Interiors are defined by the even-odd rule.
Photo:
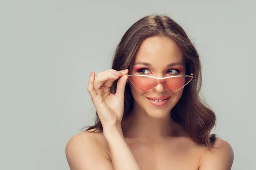
[[[110,69],[95,76],[95,72],[91,72],[87,91],[91,96],[103,129],[121,125],[124,112],[125,85],[128,79],[127,73],[128,70],[116,71]],[[116,94],[111,94],[110,87],[116,79],[119,79]]]

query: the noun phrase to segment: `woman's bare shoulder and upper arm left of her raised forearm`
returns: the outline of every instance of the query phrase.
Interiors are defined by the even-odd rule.
[[[73,136],[67,142],[66,157],[71,170],[100,169],[101,167],[112,170],[108,144],[101,131],[88,130]]]

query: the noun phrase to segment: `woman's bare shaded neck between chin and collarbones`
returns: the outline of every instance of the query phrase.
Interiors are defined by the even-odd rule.
[[[145,111],[134,107],[122,122],[122,131],[127,138],[161,140],[171,136],[187,136],[183,127],[172,120],[171,113],[164,118],[153,118]]]

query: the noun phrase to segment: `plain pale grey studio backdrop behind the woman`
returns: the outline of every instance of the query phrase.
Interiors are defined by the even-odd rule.
[[[79,129],[93,125],[95,116],[86,89],[90,71],[109,69],[122,35],[148,14],[169,15],[195,43],[204,98],[217,115],[212,132],[232,145],[232,170],[256,170],[255,1],[23,0],[18,5],[18,27],[6,29],[18,28],[13,37],[18,60],[4,58],[16,63],[18,91],[3,83],[1,170],[69,169],[65,146]],[[9,103],[14,100],[8,91],[17,107]]]

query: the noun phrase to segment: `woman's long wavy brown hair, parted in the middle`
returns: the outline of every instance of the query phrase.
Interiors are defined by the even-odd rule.
[[[186,59],[186,75],[193,73],[193,80],[184,87],[183,94],[172,108],[171,116],[174,121],[184,127],[189,137],[197,144],[213,147],[216,136],[210,135],[215,126],[215,113],[200,97],[202,85],[201,61],[195,46],[189,37],[169,16],[149,15],[134,23],[123,35],[114,53],[112,69],[124,70],[133,64],[141,42],[148,37],[166,36],[172,38]],[[111,86],[111,93],[116,92],[117,80]],[[124,115],[127,118],[133,108],[133,96],[129,83],[125,86]],[[95,125],[87,126],[86,130],[103,130],[96,112]]]

